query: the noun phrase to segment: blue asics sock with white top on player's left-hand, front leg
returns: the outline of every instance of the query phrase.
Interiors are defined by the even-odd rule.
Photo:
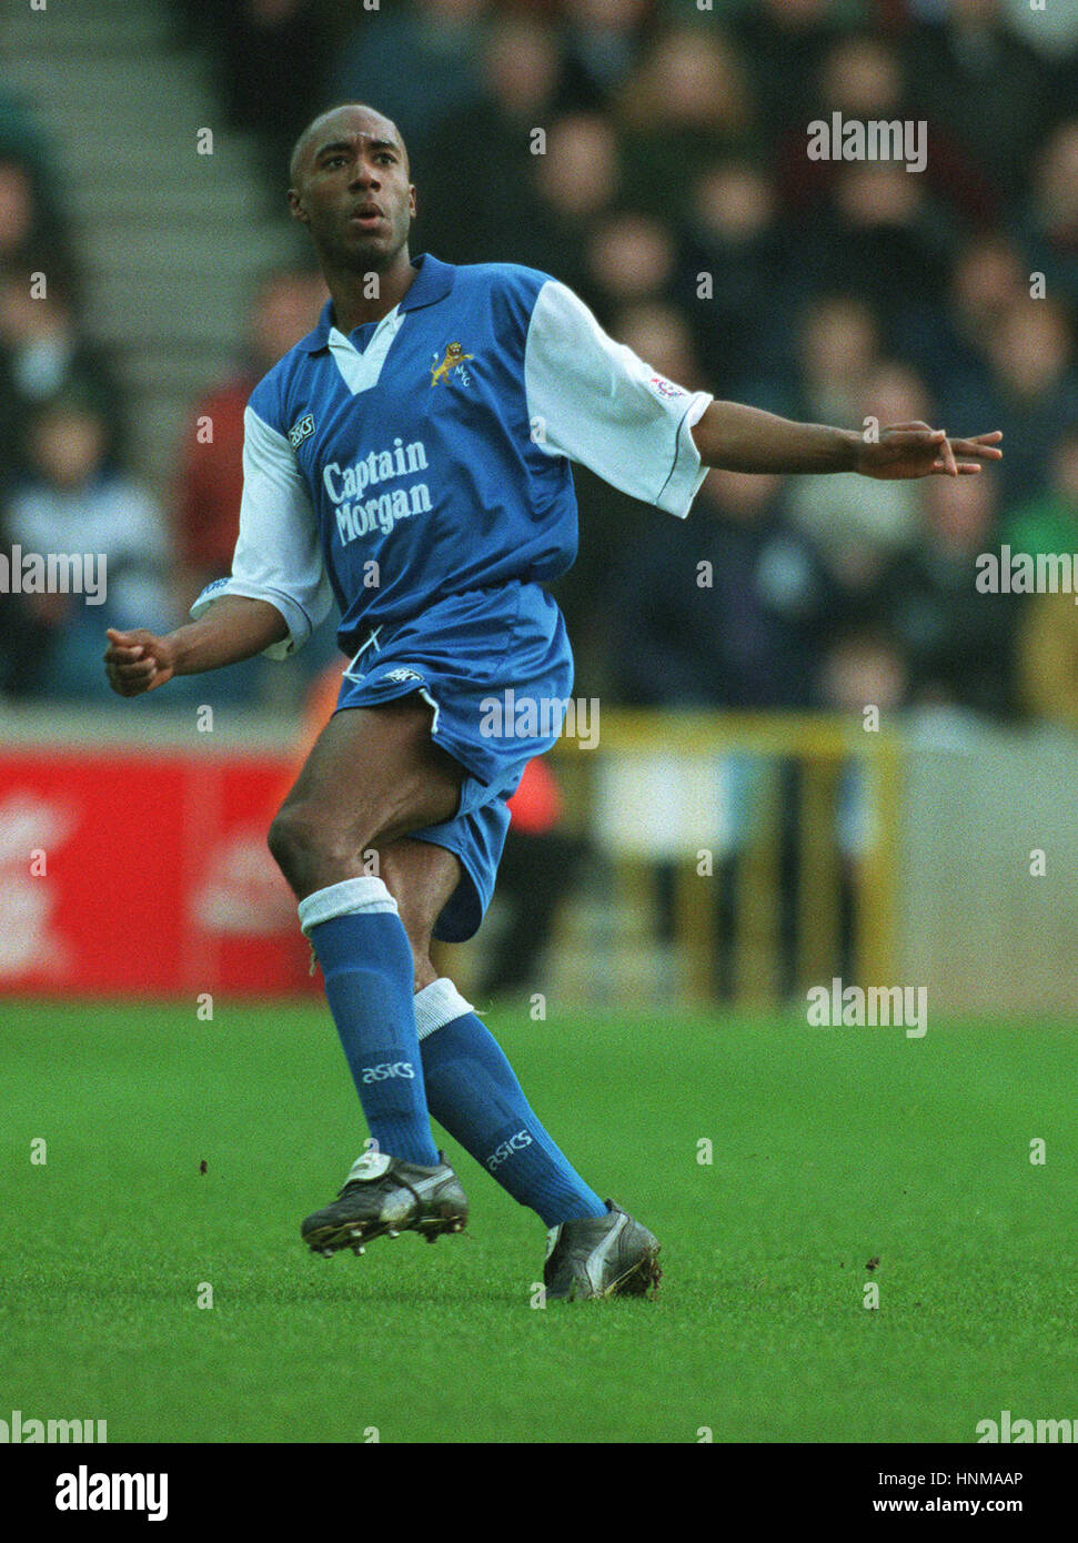
[[[415,1028],[415,966],[396,901],[379,878],[350,878],[299,903],[325,997],[378,1150],[433,1167],[438,1148]]]

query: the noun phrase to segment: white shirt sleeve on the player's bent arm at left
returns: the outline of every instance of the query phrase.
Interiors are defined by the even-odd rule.
[[[318,520],[296,457],[287,438],[251,407],[244,414],[244,497],[231,577],[207,585],[191,616],[202,616],[222,594],[268,600],[278,608],[288,636],[265,650],[270,659],[302,648],[333,603]]]

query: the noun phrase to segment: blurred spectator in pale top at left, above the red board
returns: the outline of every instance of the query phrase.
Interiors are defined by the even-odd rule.
[[[79,554],[105,579],[103,603],[83,594],[25,594],[39,653],[23,660],[37,694],[108,701],[102,685],[106,626],[139,616],[176,625],[168,597],[170,546],[163,518],[147,492],[109,461],[109,426],[89,403],[62,397],[39,409],[29,430],[31,474],[6,501],[3,531],[23,554]],[[100,562],[105,562],[102,574]]]

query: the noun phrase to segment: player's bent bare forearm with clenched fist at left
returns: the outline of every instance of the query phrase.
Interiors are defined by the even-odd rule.
[[[156,691],[174,674],[200,674],[251,659],[287,636],[285,619],[268,600],[227,594],[214,600],[197,622],[177,626],[165,637],[143,630],[120,633],[109,626],[105,674],[120,696],[140,696]]]

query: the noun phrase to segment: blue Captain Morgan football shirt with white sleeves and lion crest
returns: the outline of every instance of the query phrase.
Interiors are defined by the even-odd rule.
[[[577,552],[571,461],[685,517],[711,401],[614,343],[557,279],[415,259],[407,293],[349,336],[332,301],[254,387],[222,594],[273,603],[282,657],[341,609],[352,653],[435,599],[557,579]]]

